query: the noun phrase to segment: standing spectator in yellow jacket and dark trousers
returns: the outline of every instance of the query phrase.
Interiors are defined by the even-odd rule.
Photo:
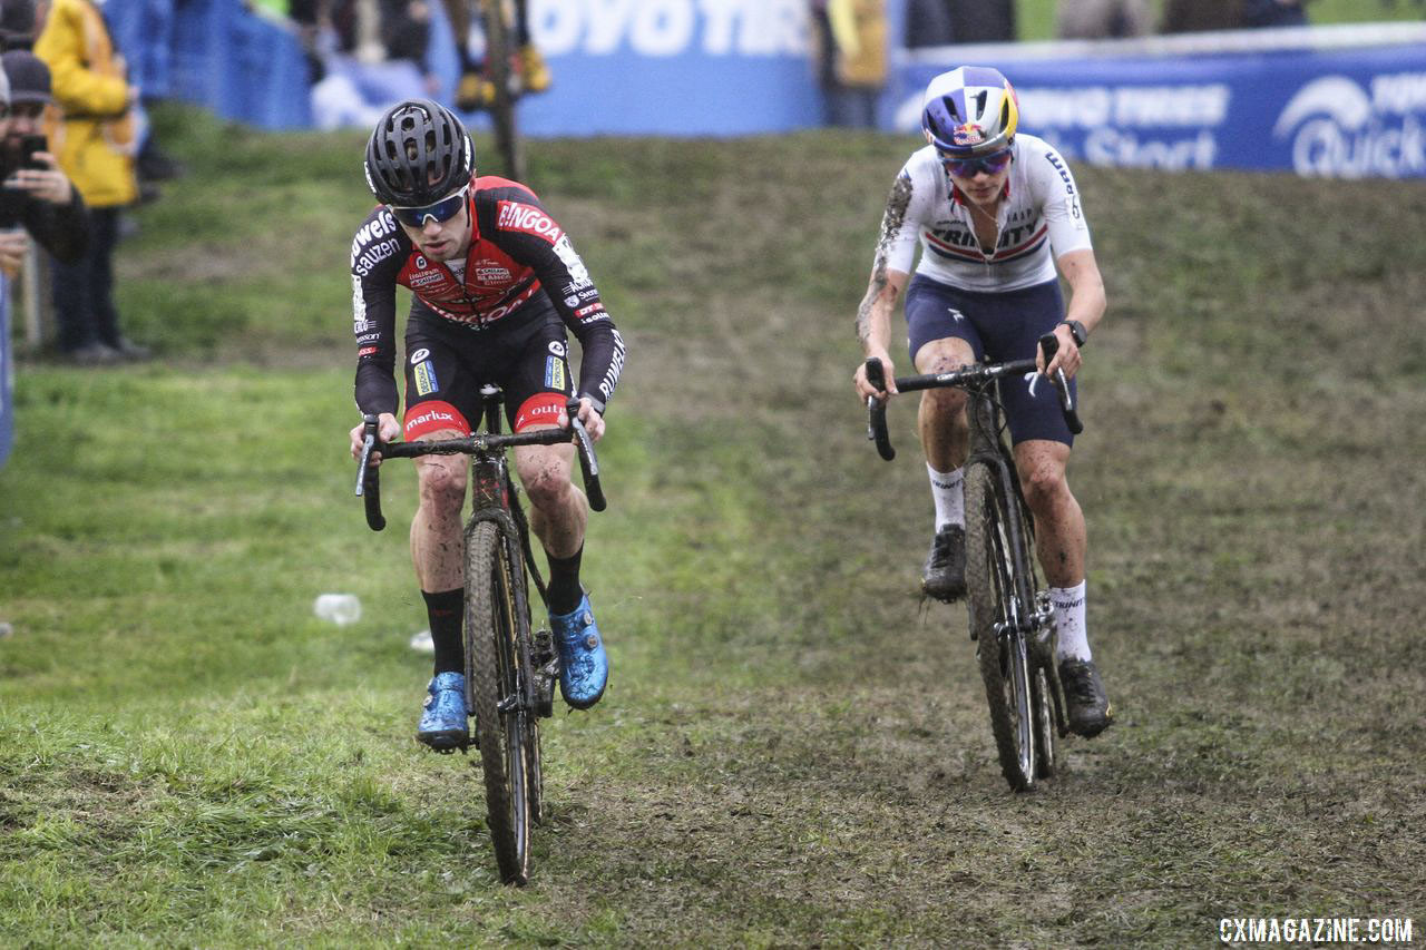
[[[147,359],[118,330],[114,247],[120,213],[138,198],[134,173],[138,88],[94,0],[53,0],[34,53],[50,67],[63,110],[54,154],[90,208],[90,241],[78,261],[54,264],[60,349],[84,364]]]

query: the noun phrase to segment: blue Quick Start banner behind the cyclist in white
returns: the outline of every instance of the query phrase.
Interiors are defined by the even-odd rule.
[[[1323,47],[1315,30],[1271,33],[1316,46],[1216,53],[1209,46],[1195,53],[1161,40],[1144,44],[1142,54],[1052,58],[1011,46],[943,47],[900,67],[894,127],[915,130],[925,84],[974,63],[1005,73],[1020,96],[1021,128],[1071,160],[1342,178],[1426,175],[1426,34],[1338,48]]]

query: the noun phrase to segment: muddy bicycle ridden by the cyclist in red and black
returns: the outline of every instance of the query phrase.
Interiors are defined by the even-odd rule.
[[[535,563],[529,522],[505,454],[518,445],[573,441],[589,506],[603,511],[606,502],[593,441],[576,415],[578,401],[566,405],[570,429],[508,435],[501,431],[501,391],[486,385],[481,397],[485,431],[459,439],[384,444],[376,438],[376,417],[364,415],[356,494],[365,498],[366,523],[381,531],[386,519],[381,514],[381,469],[368,465],[372,452],[384,459],[471,456],[473,491],[471,519],[465,525],[465,702],[475,716],[485,772],[485,807],[501,877],[523,884],[529,880],[530,826],[540,822],[543,792],[539,719],[553,712],[559,655],[549,630],[530,630],[529,579],[535,581],[540,602],[546,601],[545,581]]]

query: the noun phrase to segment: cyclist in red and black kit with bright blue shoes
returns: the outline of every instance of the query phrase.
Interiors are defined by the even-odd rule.
[[[386,110],[366,144],[366,183],[381,204],[352,240],[356,407],[381,419],[382,441],[469,435],[483,384],[505,392],[515,432],[568,427],[565,402],[595,439],[623,368],[625,345],[569,235],[533,191],[475,175],[475,147],[461,120],[428,100]],[[396,421],[396,287],[412,292],[406,317],[405,415]],[[565,330],[583,357],[579,379]],[[351,431],[359,456],[362,427]],[[572,445],[518,446],[530,526],[549,558],[550,628],[560,653],[560,693],[576,709],[603,696],[609,662],[579,583],[588,502],[570,484]],[[416,739],[451,749],[468,739],[461,643],[462,523],[466,462],[416,459],[419,505],[411,556],[435,642],[435,676]]]

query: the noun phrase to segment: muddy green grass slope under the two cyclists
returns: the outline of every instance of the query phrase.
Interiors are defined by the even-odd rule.
[[[1426,185],[1078,171],[1111,310],[1071,479],[1119,719],[1014,796],[964,609],[915,595],[913,405],[888,465],[850,387],[914,143],[539,143],[630,355],[586,558],[612,685],[548,723],[512,890],[472,759],[411,740],[409,472],[385,533],[351,496],[361,136],[164,118],[193,173],[118,258],[161,359],[19,367],[0,944],[1420,940]]]

